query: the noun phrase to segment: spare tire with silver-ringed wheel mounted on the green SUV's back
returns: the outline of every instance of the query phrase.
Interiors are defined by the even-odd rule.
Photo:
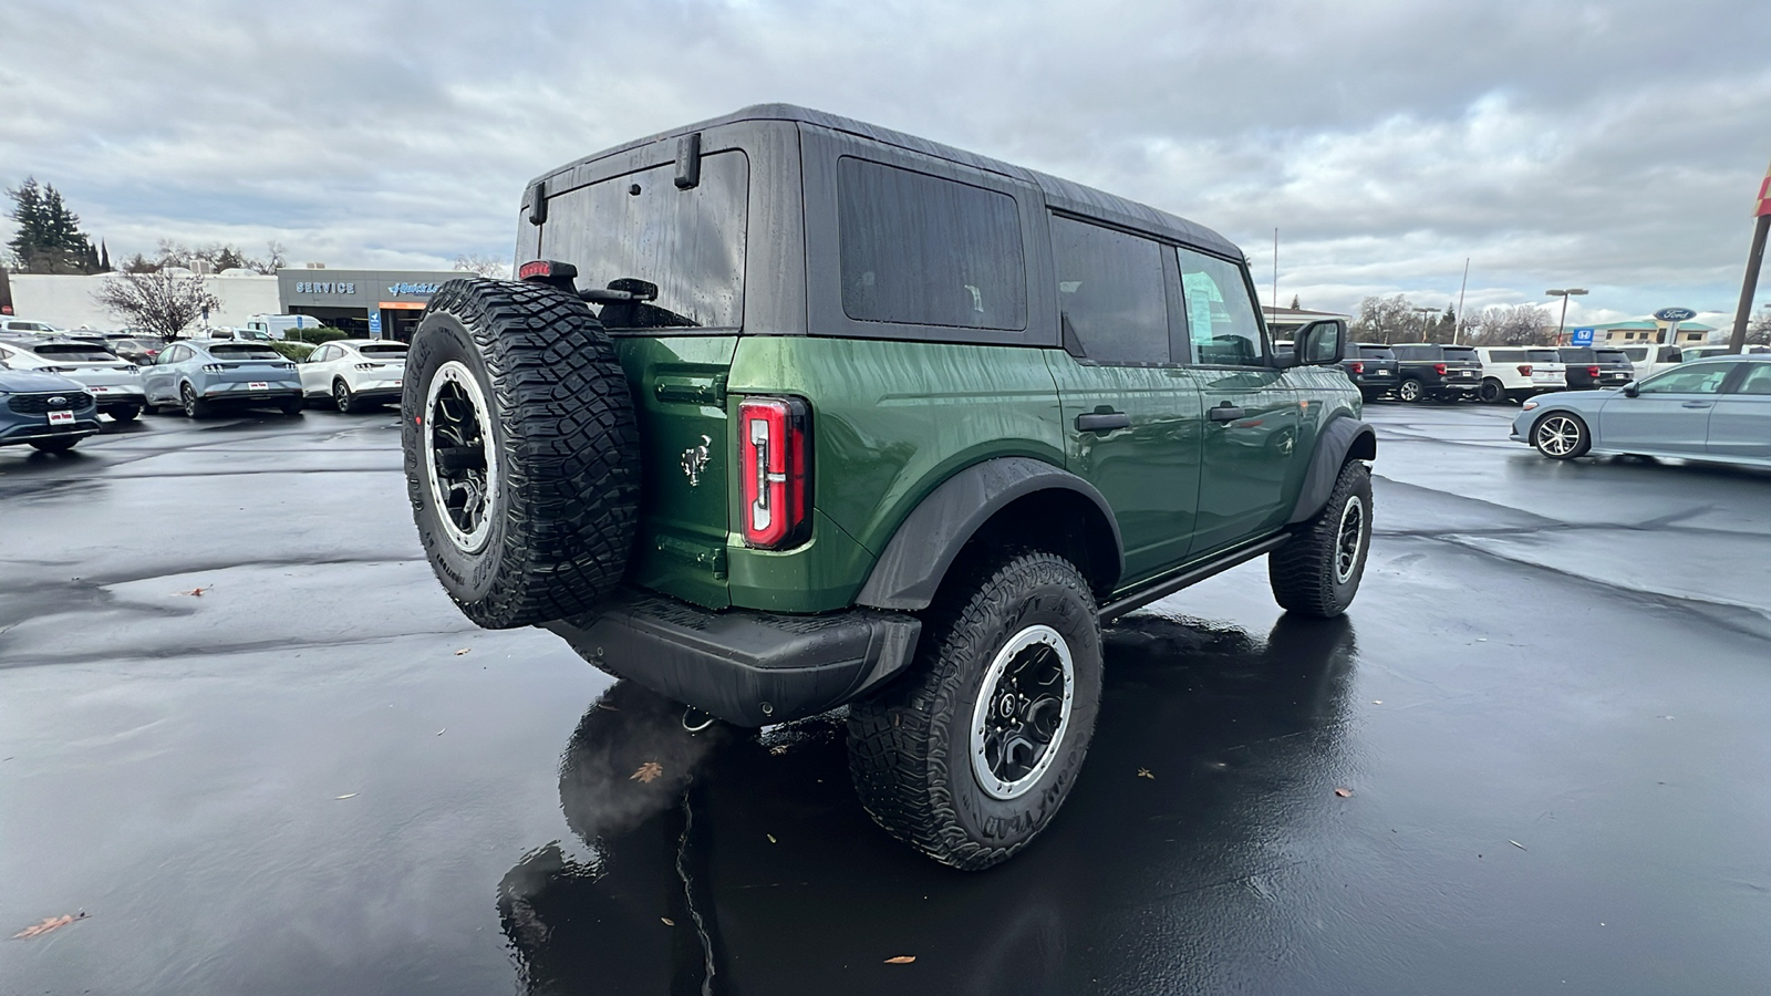
[[[639,432],[627,377],[576,294],[462,278],[406,356],[400,443],[432,571],[487,629],[577,615],[627,571]]]

